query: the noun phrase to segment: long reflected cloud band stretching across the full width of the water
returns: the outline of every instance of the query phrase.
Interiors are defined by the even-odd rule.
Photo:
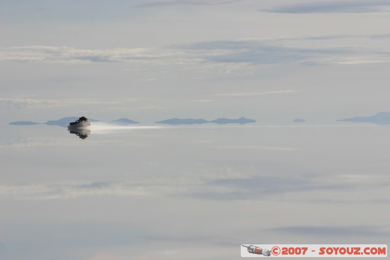
[[[245,176],[245,177],[243,177]],[[309,203],[384,203],[372,189],[386,186],[383,176],[261,175],[231,172],[154,178],[130,182],[65,181],[0,185],[0,197],[19,200],[72,199],[81,196],[181,196],[200,200],[284,200]],[[367,194],[356,199],[354,192]],[[324,200],[324,198],[326,200]],[[334,201],[333,201],[334,200]]]

